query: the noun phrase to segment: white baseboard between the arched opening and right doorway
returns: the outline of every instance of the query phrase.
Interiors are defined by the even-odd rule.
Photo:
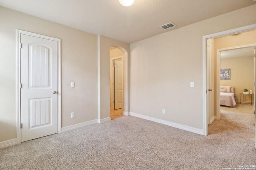
[[[198,128],[190,127],[190,126],[186,126],[186,125],[180,125],[178,123],[173,123],[173,122],[170,122],[170,121],[165,121],[165,120],[162,120],[162,119],[157,119],[157,118],[154,118],[154,117],[149,117],[149,116],[145,116],[145,115],[141,115],[141,114],[133,113],[133,112],[130,112],[130,115],[135,116],[135,117],[139,117],[139,118],[142,118],[142,119],[154,121],[156,123],[161,123],[161,124],[164,124],[164,125],[175,127],[175,128],[178,128],[178,129],[182,129],[182,130],[185,130],[185,131],[197,133],[199,135],[204,135],[203,129],[198,129]]]

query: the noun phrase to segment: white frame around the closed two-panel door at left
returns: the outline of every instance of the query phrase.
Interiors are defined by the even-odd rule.
[[[16,74],[16,94],[17,94],[17,98],[16,98],[16,131],[17,131],[17,143],[21,143],[21,113],[20,113],[20,35],[24,34],[24,35],[30,35],[30,36],[34,36],[34,37],[39,37],[39,38],[44,38],[44,39],[49,39],[52,41],[57,41],[57,45],[58,45],[58,56],[57,56],[57,62],[58,62],[58,133],[61,132],[61,63],[60,63],[60,39],[58,38],[54,38],[54,37],[48,37],[45,35],[40,35],[40,34],[36,34],[36,33],[31,33],[28,31],[22,31],[17,29],[16,30],[16,68],[17,68],[17,74]]]

